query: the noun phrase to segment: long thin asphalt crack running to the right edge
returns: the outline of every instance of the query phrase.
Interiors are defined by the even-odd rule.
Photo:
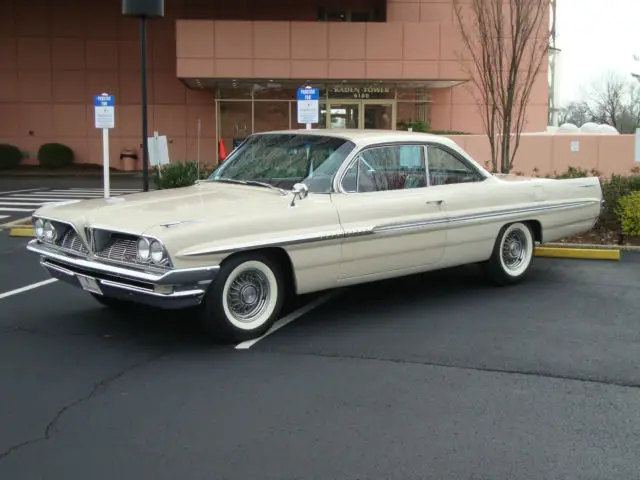
[[[255,350],[256,352],[260,352],[260,350]],[[263,350],[263,353],[275,353],[275,354],[284,354],[284,355],[304,355],[310,357],[319,357],[319,358],[336,358],[336,359],[345,359],[345,360],[367,360],[367,361],[375,361],[375,362],[386,362],[386,363],[396,363],[400,365],[421,365],[427,367],[438,367],[438,368],[451,368],[455,370],[466,370],[472,372],[485,372],[485,373],[501,373],[505,375],[523,375],[529,377],[538,377],[538,378],[548,378],[552,380],[566,380],[580,383],[593,383],[596,385],[605,385],[611,387],[620,387],[620,388],[640,388],[640,382],[624,382],[624,381],[616,381],[616,380],[598,380],[594,378],[590,378],[587,376],[575,376],[575,375],[562,375],[559,373],[545,372],[545,371],[536,371],[536,370],[516,370],[516,369],[506,369],[506,368],[490,368],[490,367],[473,367],[469,365],[454,365],[449,363],[441,363],[441,362],[430,362],[430,361],[420,361],[420,360],[403,360],[399,358],[378,358],[374,356],[368,355],[345,355],[340,353],[320,353],[320,352],[287,352],[287,351],[278,351],[278,350]]]

